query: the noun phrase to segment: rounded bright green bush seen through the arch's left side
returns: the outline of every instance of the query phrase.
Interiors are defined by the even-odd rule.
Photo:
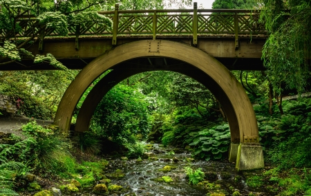
[[[148,103],[140,91],[127,85],[117,85],[102,99],[95,110],[91,129],[97,135],[111,138],[120,144],[134,143],[133,135],[149,132]]]

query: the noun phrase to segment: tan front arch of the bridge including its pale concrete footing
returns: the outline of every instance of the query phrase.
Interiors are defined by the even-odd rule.
[[[212,91],[212,93],[214,94],[218,91],[223,91],[227,96],[230,105],[232,105],[236,116],[235,123],[238,125],[238,134],[240,135],[239,138],[241,143],[238,146],[238,149],[236,149],[237,168],[249,169],[260,168],[263,166],[263,158],[258,158],[260,161],[256,162],[256,164],[251,161],[252,156],[263,157],[263,155],[261,146],[258,145],[258,127],[254,109],[252,108],[252,104],[241,84],[238,83],[236,78],[224,65],[219,63],[212,56],[209,56],[209,54],[198,50],[196,47],[173,41],[160,41],[158,50],[151,48],[150,41],[135,41],[115,47],[113,50],[95,58],[95,60],[82,69],[82,71],[76,76],[75,80],[73,80],[73,83],[69,85],[59,103],[55,116],[55,124],[59,126],[59,129],[69,129],[75,105],[77,105],[79,98],[87,87],[91,85],[93,80],[100,76],[100,74],[114,65],[129,59],[146,56],[178,59],[189,63],[190,65],[194,65],[204,72],[205,76],[211,78],[209,82],[218,86],[218,88],[216,88],[214,92]],[[194,77],[196,78],[197,76]],[[201,81],[199,80],[199,82]],[[226,105],[225,102],[220,102],[220,104]],[[254,146],[250,147],[250,151],[247,150],[249,149],[249,145],[245,145],[245,143],[247,144],[249,142],[256,143],[256,150],[254,150]]]

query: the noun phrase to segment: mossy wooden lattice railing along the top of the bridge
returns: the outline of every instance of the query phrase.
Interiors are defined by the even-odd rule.
[[[258,22],[258,10],[198,10],[196,3],[191,10],[119,10],[98,12],[110,18],[113,26],[88,22],[68,27],[68,36],[112,36],[113,45],[120,35],[150,35],[153,39],[162,34],[189,35],[196,45],[198,35],[232,34],[238,46],[238,36],[267,34],[265,26]],[[21,30],[16,37],[32,36],[33,28],[39,30],[36,19],[20,19]],[[1,32],[0,36],[4,36]],[[59,36],[57,30],[46,29],[40,37]]]

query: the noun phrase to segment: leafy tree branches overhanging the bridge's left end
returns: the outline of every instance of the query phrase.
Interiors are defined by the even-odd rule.
[[[111,20],[97,14],[105,0],[0,0],[0,65],[21,61],[22,57],[34,59],[34,63],[43,61],[57,69],[66,69],[52,54],[34,56],[27,48],[40,41],[46,30],[56,30],[60,35],[68,34],[70,25],[83,25],[89,21],[97,21],[99,25],[111,26]],[[29,37],[17,40],[21,29],[22,18],[35,19],[31,25]]]

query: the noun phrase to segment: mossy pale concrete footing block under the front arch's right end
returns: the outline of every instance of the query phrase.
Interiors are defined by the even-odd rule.
[[[233,149],[236,147],[234,145],[232,145]],[[233,153],[234,151],[232,151],[232,156],[234,156]],[[261,147],[261,144],[240,143],[238,145],[236,157],[236,168],[238,169],[238,171],[263,168],[264,166],[265,164],[263,162],[263,147]]]

